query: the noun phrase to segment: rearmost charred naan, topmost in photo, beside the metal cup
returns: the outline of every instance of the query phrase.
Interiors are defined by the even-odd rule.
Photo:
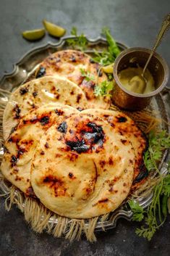
[[[76,83],[90,102],[90,107],[109,109],[109,97],[95,97],[94,88],[96,83],[100,84],[107,80],[107,76],[100,70],[101,66],[93,62],[88,54],[81,51],[65,50],[57,51],[44,59],[36,71],[36,78],[43,75],[61,75]],[[89,74],[90,80],[85,78],[81,69]]]

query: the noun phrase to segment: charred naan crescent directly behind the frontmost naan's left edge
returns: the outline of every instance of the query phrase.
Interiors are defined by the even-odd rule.
[[[4,144],[4,157],[1,172],[12,184],[27,195],[33,195],[30,184],[30,166],[35,147],[43,133],[54,123],[72,113],[79,112],[73,107],[61,104],[48,104],[32,110],[22,117]],[[48,143],[46,144],[48,148]],[[43,157],[43,152],[41,152]]]

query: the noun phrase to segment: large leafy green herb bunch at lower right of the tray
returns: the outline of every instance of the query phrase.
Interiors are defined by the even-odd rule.
[[[129,201],[129,207],[133,212],[132,220],[145,220],[144,226],[136,229],[138,236],[143,236],[150,241],[156,230],[163,225],[167,216],[167,200],[170,197],[170,168],[168,173],[161,174],[158,170],[158,162],[161,161],[164,149],[170,148],[170,136],[166,131],[149,135],[149,146],[144,155],[145,166],[148,171],[154,171],[159,176],[159,183],[153,188],[153,199],[148,209],[143,210],[135,200]]]

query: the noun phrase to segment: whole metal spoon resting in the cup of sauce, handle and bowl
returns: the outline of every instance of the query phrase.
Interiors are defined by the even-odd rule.
[[[143,73],[141,75],[135,75],[131,80],[129,80],[129,86],[131,86],[131,90],[137,94],[143,94],[145,91],[147,80],[144,76],[145,70],[148,67],[150,59],[153,57],[154,52],[156,51],[157,47],[161,44],[162,38],[165,35],[166,31],[169,30],[170,26],[170,13],[164,17],[161,29],[159,30],[158,36],[156,38],[156,43],[153,45],[153,49],[150,51],[150,55],[148,60],[143,68]]]

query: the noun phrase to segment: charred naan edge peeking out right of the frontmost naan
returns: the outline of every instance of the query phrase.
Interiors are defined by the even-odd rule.
[[[131,141],[135,149],[135,170],[132,189],[136,189],[137,186],[140,186],[144,178],[148,175],[143,162],[143,154],[148,146],[148,142],[140,128],[138,128],[135,122],[127,115],[114,110],[83,110],[82,114],[87,114],[90,117],[97,116],[106,120],[116,133],[126,137],[123,141],[124,143],[126,143],[127,139]]]

